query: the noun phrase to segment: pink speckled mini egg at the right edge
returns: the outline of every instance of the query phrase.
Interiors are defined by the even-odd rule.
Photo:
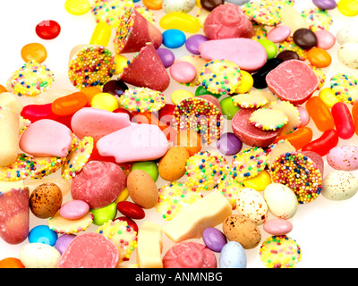
[[[358,169],[358,147],[338,145],[329,150],[327,163],[336,170],[354,171]]]

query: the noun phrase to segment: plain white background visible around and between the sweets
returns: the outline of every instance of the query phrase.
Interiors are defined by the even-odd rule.
[[[141,2],[136,4],[141,4]],[[314,7],[311,0],[296,0],[294,6],[299,12],[303,11],[303,9]],[[64,10],[64,0],[1,1],[0,8],[2,11],[2,16],[0,17],[0,84],[5,85],[12,72],[19,69],[23,64],[21,47],[29,43],[38,42],[47,48],[48,55],[45,64],[55,73],[53,88],[69,88],[76,91],[76,88],[72,87],[67,77],[67,63],[73,46],[90,42],[96,25],[92,14],[89,12],[81,16],[71,15]],[[196,12],[197,8],[191,14],[195,16]],[[154,13],[158,25],[160,15],[163,13]],[[357,27],[357,17],[346,17],[339,13],[337,9],[328,13],[334,21],[330,29],[334,35],[336,35],[339,28],[346,24]],[[35,33],[35,27],[39,21],[44,20],[55,20],[60,23],[62,31],[58,38],[53,40],[38,38]],[[190,34],[187,34],[187,36],[190,36]],[[338,46],[336,44],[336,46],[328,50],[329,54],[332,55],[333,62],[329,68],[324,69],[327,75],[325,87],[329,86],[329,79],[338,72],[344,72],[347,75],[353,75],[358,78],[358,71],[346,68],[339,63],[337,59]],[[108,47],[113,48],[112,44]],[[177,57],[189,54],[184,46],[175,50]],[[128,59],[132,57],[132,55],[125,56]],[[195,88],[185,88],[172,80],[171,87],[165,92],[169,103],[172,92],[177,89],[195,91]],[[21,98],[21,100],[25,100],[25,98]],[[28,102],[24,101],[24,104]],[[318,138],[320,132],[315,129],[313,122],[310,122],[309,126],[314,130],[314,138]],[[353,139],[340,140],[339,144],[357,145],[357,142],[357,136],[354,135]],[[325,167],[325,175],[327,175],[332,169],[329,168],[328,164]],[[358,172],[354,172],[354,174],[358,175]],[[185,178],[182,179],[181,181],[185,181]],[[159,178],[157,181],[158,188],[164,184],[166,184],[166,181]],[[71,199],[70,194],[64,198],[64,201],[69,199]],[[303,252],[302,261],[296,266],[297,268],[358,266],[358,248],[356,247],[356,240],[358,239],[357,206],[358,195],[350,200],[340,202],[329,201],[320,196],[310,204],[299,206],[294,218],[290,220],[294,224],[294,230],[289,234],[290,237],[297,241]],[[146,213],[147,216],[144,220],[163,225],[166,223],[155,209],[146,211]],[[119,213],[117,214],[117,216],[120,215]],[[270,218],[274,217],[270,216]],[[137,223],[141,225],[144,220],[137,221]],[[38,224],[47,224],[47,220],[37,219],[30,213],[30,229]],[[217,227],[220,229],[220,226]],[[92,225],[88,231],[96,231],[97,228],[96,225]],[[268,237],[268,233],[263,231],[262,226],[260,226],[260,231],[263,241]],[[165,234],[163,234],[163,241],[164,255],[173,243],[166,238]],[[201,242],[201,240],[196,241]],[[4,240],[0,240],[0,259],[19,257],[20,249],[27,243],[28,240],[25,240],[19,245],[9,245],[4,243]],[[265,267],[260,261],[259,249],[260,245],[257,248],[246,250],[248,267]],[[130,263],[135,263],[135,253],[132,254]]]

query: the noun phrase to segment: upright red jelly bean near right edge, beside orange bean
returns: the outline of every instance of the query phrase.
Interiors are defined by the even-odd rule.
[[[354,122],[347,105],[337,102],[332,106],[331,112],[339,138],[351,139],[354,135]]]

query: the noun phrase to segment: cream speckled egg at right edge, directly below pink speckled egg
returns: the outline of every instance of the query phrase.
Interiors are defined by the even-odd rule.
[[[358,191],[358,179],[351,172],[329,172],[322,181],[322,195],[330,200],[352,198]]]

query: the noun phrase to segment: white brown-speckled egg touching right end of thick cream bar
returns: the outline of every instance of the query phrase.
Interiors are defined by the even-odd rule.
[[[265,223],[268,218],[268,205],[262,195],[255,189],[242,189],[236,199],[236,209],[256,225]]]

